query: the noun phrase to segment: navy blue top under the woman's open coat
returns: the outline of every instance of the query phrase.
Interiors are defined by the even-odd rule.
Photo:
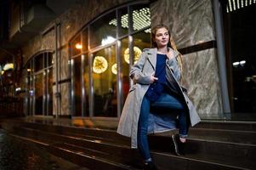
[[[154,83],[150,85],[150,88],[146,91],[145,96],[151,101],[156,101],[161,94],[167,82],[166,80],[166,54],[156,55],[156,73],[155,77],[158,78]]]

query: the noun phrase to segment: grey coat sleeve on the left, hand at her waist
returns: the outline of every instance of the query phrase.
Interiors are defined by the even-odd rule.
[[[139,56],[137,63],[132,66],[129,76],[132,78],[134,83],[150,84],[151,76],[145,75],[145,73],[143,73],[146,59],[147,54],[144,50],[144,52]]]

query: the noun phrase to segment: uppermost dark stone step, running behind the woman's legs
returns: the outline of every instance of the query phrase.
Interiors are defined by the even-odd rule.
[[[109,141],[118,141],[119,144],[129,144],[130,139],[120,138],[121,135],[117,134],[115,130],[95,129],[95,128],[82,128],[82,127],[62,127],[50,126],[41,123],[24,123],[22,126],[31,127],[34,129],[46,130],[53,133],[62,134],[77,134],[78,136],[99,137]],[[178,131],[159,133],[160,136],[171,136]],[[111,138],[109,138],[111,136]],[[253,131],[238,131],[238,130],[223,130],[223,129],[210,129],[210,128],[191,128],[189,132],[190,139],[206,139],[218,142],[230,142],[238,144],[256,144],[256,132]]]

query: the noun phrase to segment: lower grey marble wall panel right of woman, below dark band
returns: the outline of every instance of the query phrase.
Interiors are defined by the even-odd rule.
[[[218,115],[222,112],[219,88],[219,71],[216,49],[211,48],[183,56],[182,84],[188,88],[196,111],[203,115]]]

